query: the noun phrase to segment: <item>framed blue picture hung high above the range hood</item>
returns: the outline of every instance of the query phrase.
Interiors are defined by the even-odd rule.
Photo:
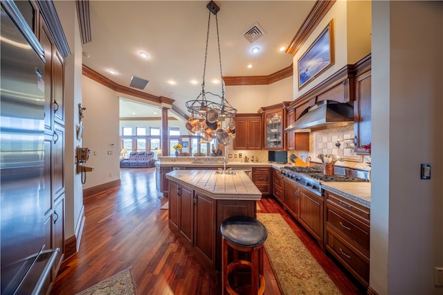
[[[298,89],[302,89],[334,64],[332,20],[298,60]]]

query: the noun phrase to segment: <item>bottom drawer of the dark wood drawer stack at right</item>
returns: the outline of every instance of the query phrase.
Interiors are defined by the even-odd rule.
[[[327,230],[326,249],[343,263],[351,274],[364,286],[369,285],[369,258],[359,253],[352,245]]]

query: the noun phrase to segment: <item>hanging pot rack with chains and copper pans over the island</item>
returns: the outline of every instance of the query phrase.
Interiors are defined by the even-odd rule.
[[[188,100],[185,105],[191,113],[191,117],[186,123],[186,128],[191,134],[201,134],[203,140],[208,142],[217,138],[217,142],[221,145],[228,145],[229,138],[235,138],[235,123],[233,118],[237,114],[237,109],[233,108],[224,96],[224,82],[221,71],[221,53],[219,40],[219,24],[217,12],[220,8],[214,1],[210,1],[206,8],[209,10],[208,31],[206,33],[206,51],[205,62],[203,68],[203,80],[201,82],[201,92],[195,100]],[[221,80],[221,95],[205,90],[206,60],[208,57],[208,40],[210,29],[211,13],[215,15],[215,24],[217,26],[217,44],[219,49],[219,65]]]

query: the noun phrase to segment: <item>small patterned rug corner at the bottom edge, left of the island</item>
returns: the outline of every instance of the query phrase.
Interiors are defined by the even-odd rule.
[[[77,295],[136,295],[137,285],[129,267],[118,274],[114,274],[106,280],[89,287],[88,289],[78,293]]]

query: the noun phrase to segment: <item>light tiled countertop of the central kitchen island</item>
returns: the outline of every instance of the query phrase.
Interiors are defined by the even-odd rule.
[[[217,170],[174,170],[166,178],[188,186],[213,199],[261,199],[262,193],[246,172],[219,174]]]

